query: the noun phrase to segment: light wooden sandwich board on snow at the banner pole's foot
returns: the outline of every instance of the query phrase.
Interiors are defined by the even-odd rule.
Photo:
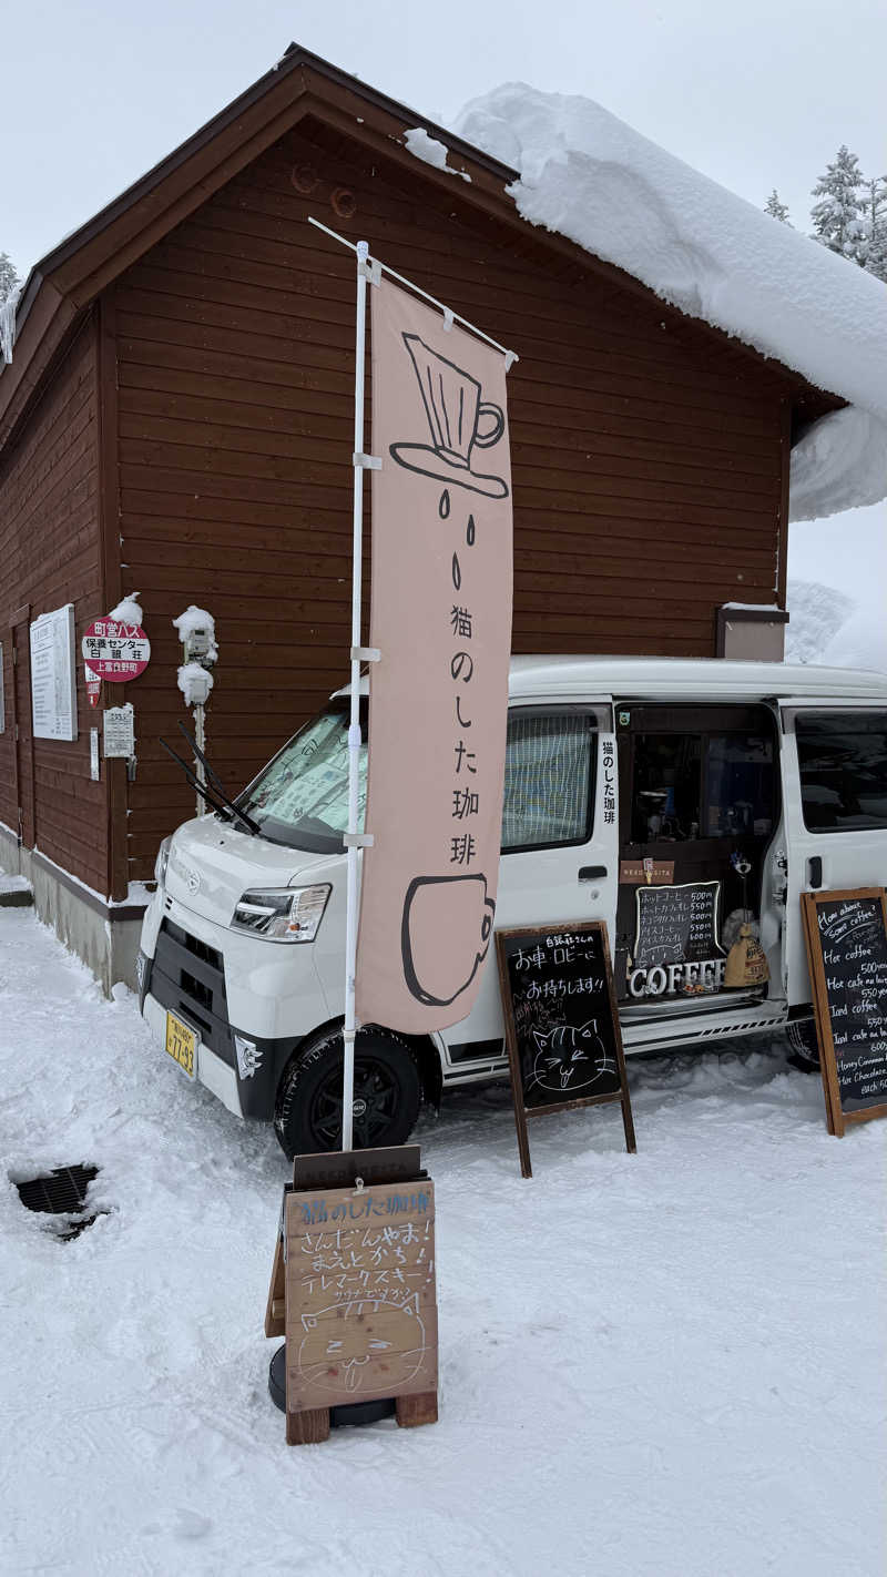
[[[296,1156],[284,1191],[265,1334],[284,1336],[287,1445],[329,1437],[329,1410],[395,1402],[438,1418],[435,1186],[419,1146]]]

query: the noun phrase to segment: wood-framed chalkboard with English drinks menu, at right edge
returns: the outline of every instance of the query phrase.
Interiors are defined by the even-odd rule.
[[[887,1117],[887,894],[802,893],[829,1132]]]

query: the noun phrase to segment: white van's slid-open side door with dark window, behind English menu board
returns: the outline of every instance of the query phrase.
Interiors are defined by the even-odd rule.
[[[887,885],[887,708],[871,700],[780,700],[788,841],[783,973],[811,1000],[800,894]]]

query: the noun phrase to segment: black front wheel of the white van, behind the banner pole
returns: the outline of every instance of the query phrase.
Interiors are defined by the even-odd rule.
[[[342,1031],[314,1041],[287,1064],[277,1087],[274,1132],[288,1161],[342,1146]],[[354,1042],[354,1150],[402,1145],[416,1126],[422,1082],[405,1041],[359,1030]]]

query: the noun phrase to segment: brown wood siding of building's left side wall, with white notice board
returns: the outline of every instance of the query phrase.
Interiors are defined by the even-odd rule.
[[[104,782],[90,779],[90,708],[80,639],[99,607],[96,517],[96,352],[93,322],[0,459],[0,639],[6,730],[0,735],[0,820],[65,871],[107,893]],[[77,740],[32,740],[28,621],[74,602]],[[13,677],[11,620],[17,672]],[[14,722],[19,722],[16,752]],[[17,770],[16,770],[17,755]]]

